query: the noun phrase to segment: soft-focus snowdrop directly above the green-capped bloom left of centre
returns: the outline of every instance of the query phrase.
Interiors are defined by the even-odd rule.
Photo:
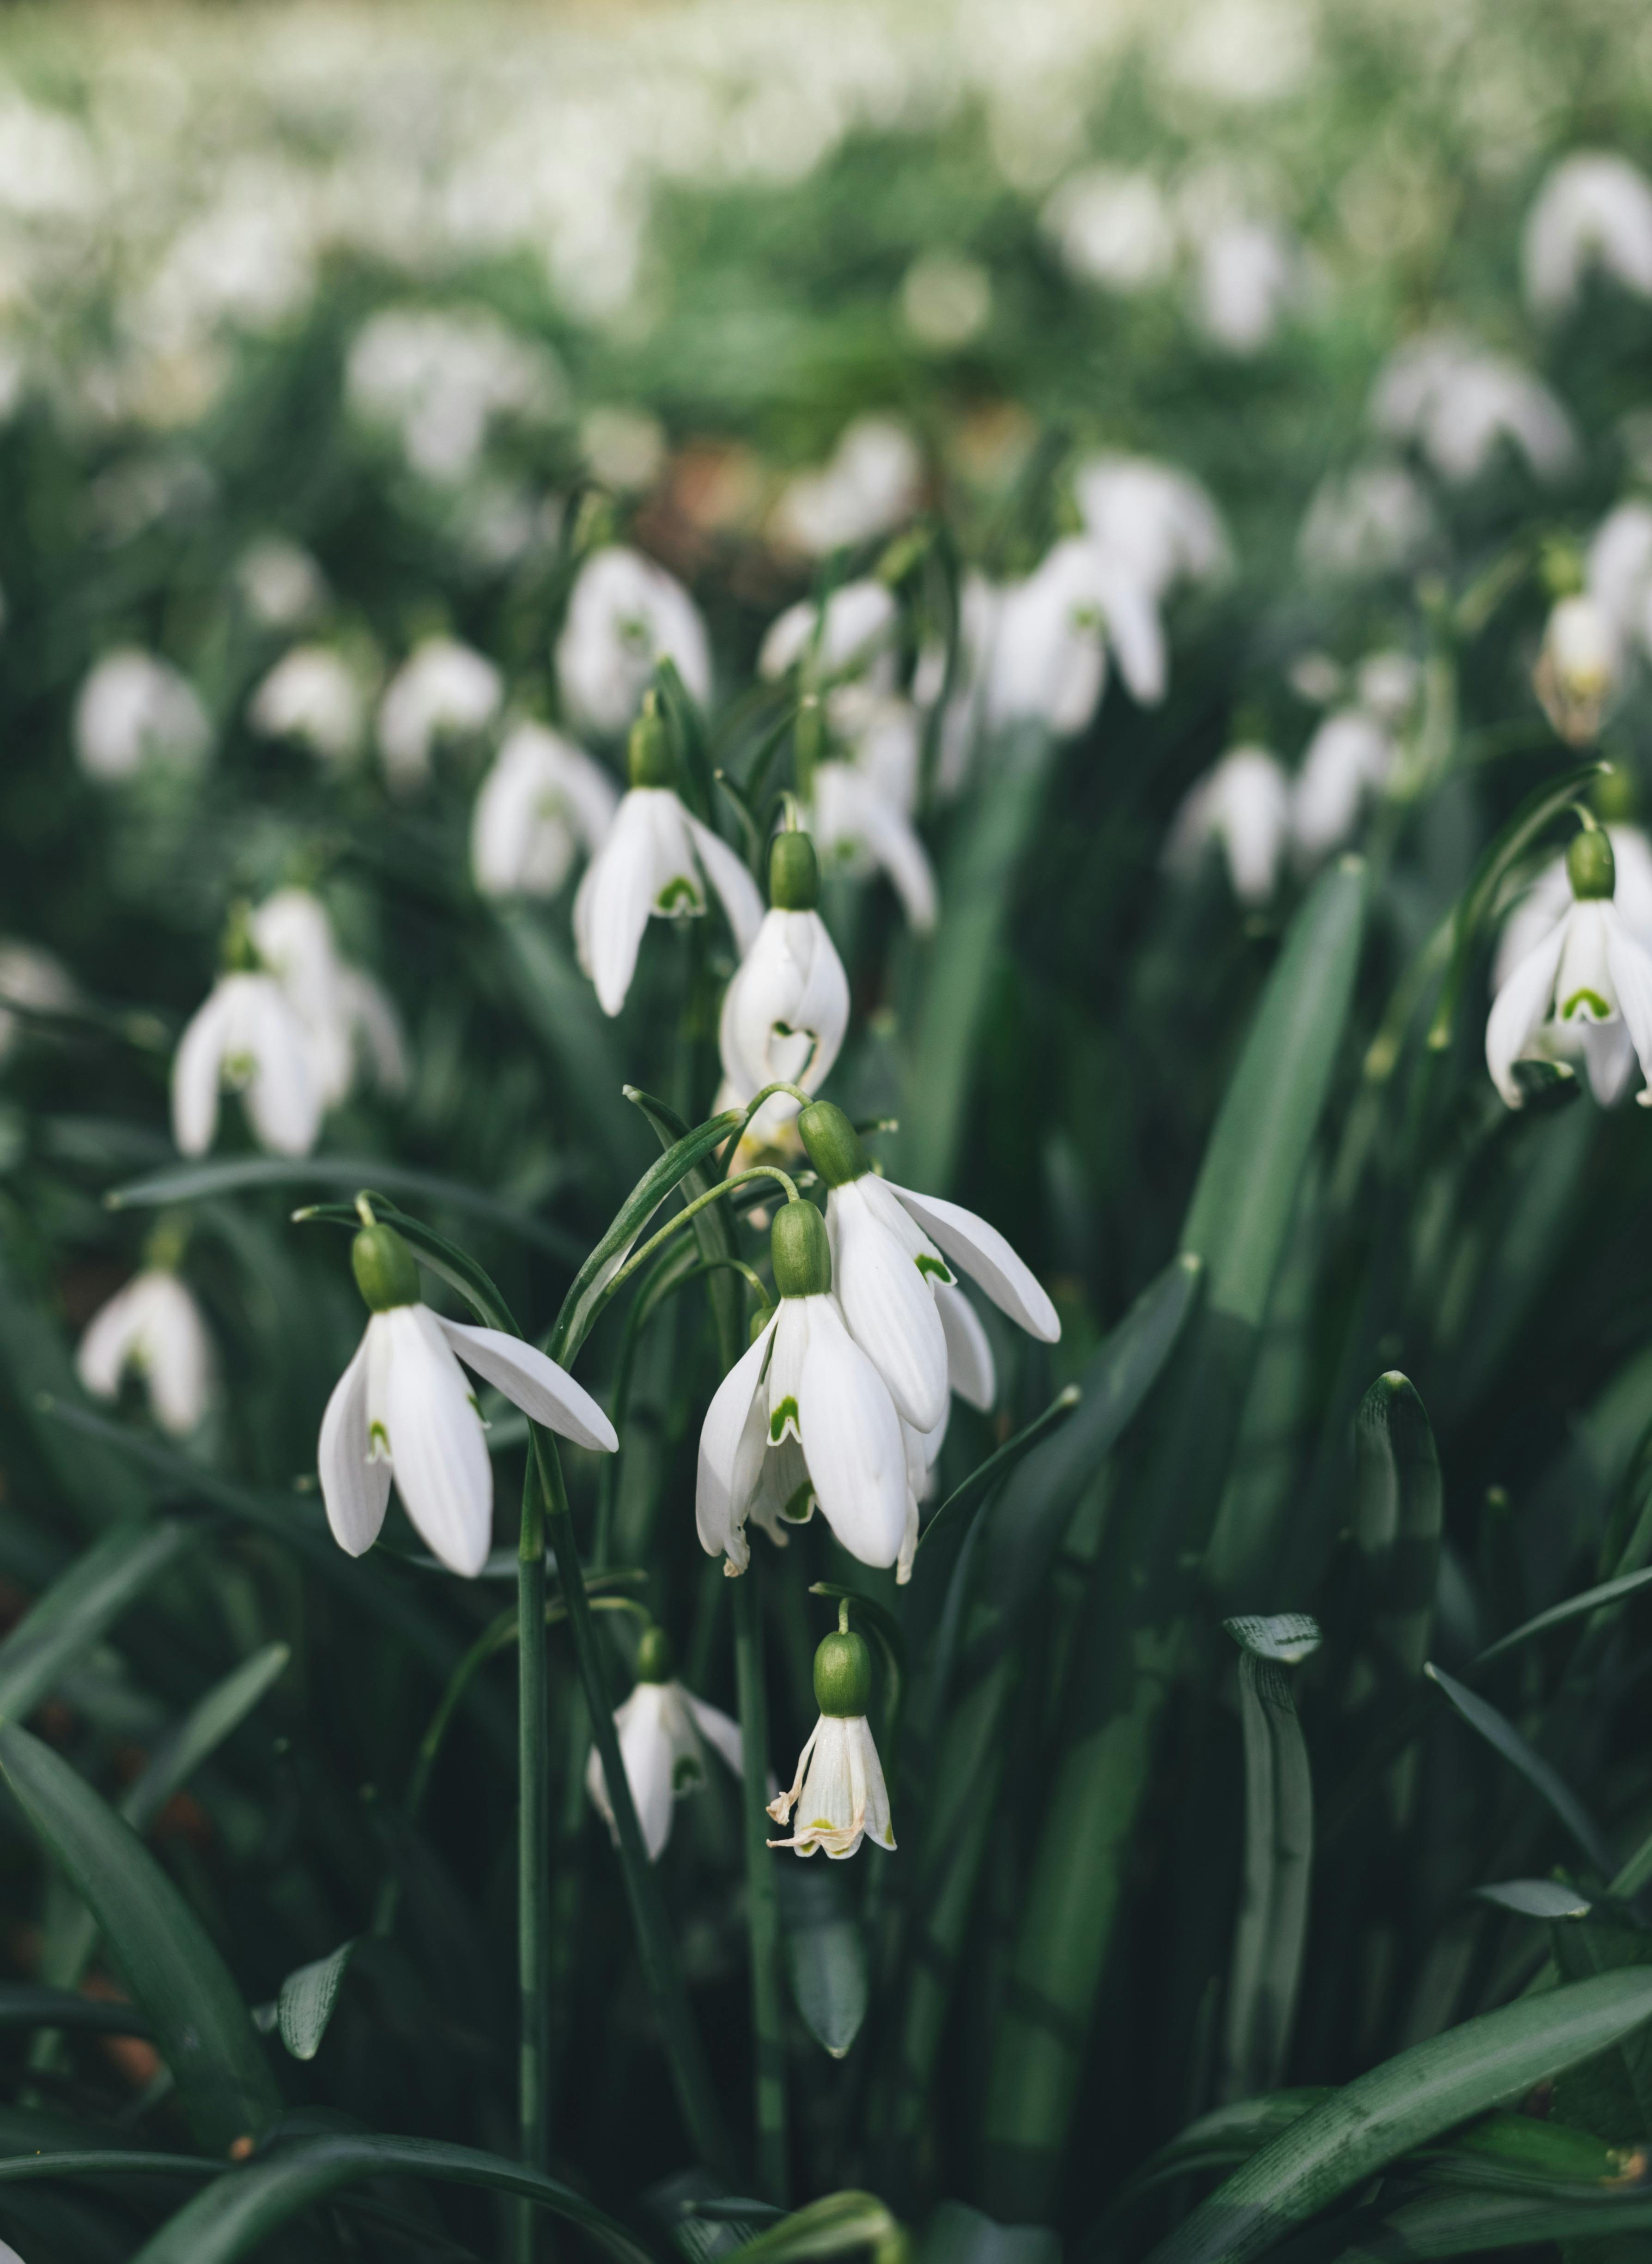
[[[711,697],[711,645],[681,582],[620,543],[593,550],[575,577],[557,638],[557,684],[586,731],[625,731],[659,661],[674,661],[690,697]]]

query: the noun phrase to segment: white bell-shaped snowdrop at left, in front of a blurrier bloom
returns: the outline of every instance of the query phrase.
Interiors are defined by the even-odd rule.
[[[299,1010],[269,974],[226,974],[179,1039],[172,1057],[172,1139],[206,1155],[217,1134],[217,1096],[240,1091],[260,1148],[308,1155],[326,1105],[315,1048]]]

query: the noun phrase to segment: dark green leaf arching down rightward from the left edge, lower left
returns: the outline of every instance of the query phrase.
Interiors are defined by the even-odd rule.
[[[138,1834],[50,1746],[0,1725],[0,1775],[97,1920],[154,2026],[201,2146],[229,2146],[281,2112],[263,2047],[224,1961]]]

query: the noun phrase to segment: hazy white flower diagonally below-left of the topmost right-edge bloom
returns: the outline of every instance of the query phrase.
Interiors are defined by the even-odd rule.
[[[1577,437],[1555,394],[1455,331],[1430,331],[1387,358],[1371,423],[1389,439],[1414,439],[1453,484],[1475,480],[1505,444],[1539,480],[1564,480],[1577,462]]]

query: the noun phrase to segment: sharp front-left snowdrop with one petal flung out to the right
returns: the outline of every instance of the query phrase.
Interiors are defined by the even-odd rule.
[[[373,1546],[394,1476],[432,1555],[475,1578],[493,1540],[493,1463],[464,1367],[577,1447],[613,1453],[618,1438],[591,1392],[534,1345],[421,1304],[412,1250],[362,1200],[358,1209],[351,1266],[371,1320],[326,1404],[317,1449],[333,1540],[349,1555]]]

